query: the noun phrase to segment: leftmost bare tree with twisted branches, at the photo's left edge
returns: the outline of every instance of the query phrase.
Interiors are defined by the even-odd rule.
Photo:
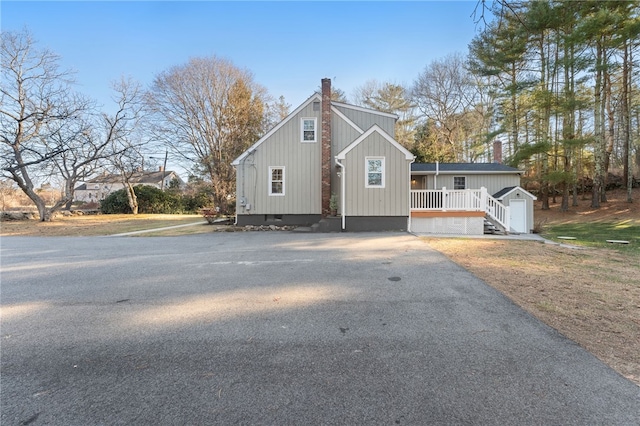
[[[88,105],[74,97],[71,75],[58,67],[58,56],[38,50],[28,31],[2,33],[0,154],[3,176],[33,201],[40,220],[55,210],[35,190],[37,177],[69,150],[57,135],[85,113]],[[54,206],[56,207],[56,206]],[[58,206],[59,207],[59,206]]]

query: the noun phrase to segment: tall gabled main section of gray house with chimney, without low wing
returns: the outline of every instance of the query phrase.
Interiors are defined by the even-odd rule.
[[[414,156],[394,139],[398,117],[332,102],[330,79],[321,87],[232,162],[236,223],[407,230]]]

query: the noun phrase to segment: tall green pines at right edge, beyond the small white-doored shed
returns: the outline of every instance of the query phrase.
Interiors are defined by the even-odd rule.
[[[489,138],[504,141],[508,161],[539,186],[592,206],[606,201],[610,171],[622,171],[631,201],[640,165],[637,1],[503,2],[470,44],[467,69],[491,111]],[[585,185],[586,184],[586,185]]]

